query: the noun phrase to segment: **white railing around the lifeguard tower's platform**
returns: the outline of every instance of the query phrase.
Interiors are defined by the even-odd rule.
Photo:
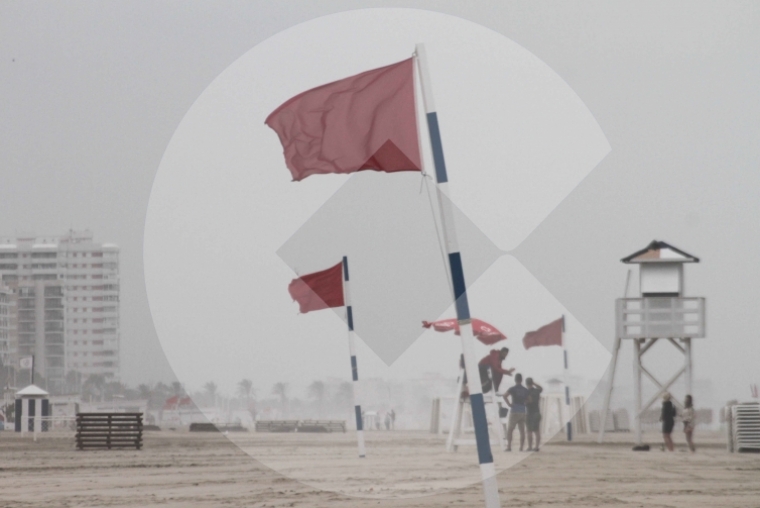
[[[680,297],[618,298],[617,336],[621,339],[703,338],[705,299]]]

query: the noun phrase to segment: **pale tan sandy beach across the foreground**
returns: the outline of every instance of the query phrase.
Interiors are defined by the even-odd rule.
[[[374,445],[378,452],[356,468],[348,459],[343,466],[320,463],[320,449],[328,444],[320,437],[324,436],[235,437],[258,447],[256,453],[280,450],[283,458],[278,468],[289,468],[288,474],[302,479],[311,474],[304,483],[254,460],[221,434],[152,432],[147,433],[141,451],[81,452],[74,449],[70,436],[50,435],[34,443],[29,437],[4,432],[0,435],[0,507],[483,504],[478,483],[462,486],[462,478],[477,474],[474,449],[450,455],[442,451],[441,438],[426,433],[376,433],[370,434],[368,449]],[[346,440],[347,454],[349,449],[353,452],[350,434],[334,437]],[[632,452],[630,435],[610,436],[604,445],[594,443],[591,436],[581,436],[572,444],[555,438],[539,453],[513,452],[514,458],[507,460],[516,464],[498,476],[502,505],[760,506],[760,455],[729,454],[720,435],[700,437],[701,446],[693,455],[660,451],[656,435],[647,436],[648,442],[657,443],[648,453]],[[683,450],[681,441],[677,444]],[[434,458],[423,450],[430,450],[427,453]],[[405,458],[394,460],[394,454]],[[419,463],[410,459],[415,454],[420,456]],[[497,464],[505,464],[505,455],[510,454],[495,452]],[[273,456],[264,460],[271,462]],[[345,467],[353,467],[354,473],[347,475]],[[426,489],[437,493],[425,495]]]

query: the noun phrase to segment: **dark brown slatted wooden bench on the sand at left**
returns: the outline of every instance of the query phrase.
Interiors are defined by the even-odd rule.
[[[79,450],[142,448],[142,413],[77,413]]]

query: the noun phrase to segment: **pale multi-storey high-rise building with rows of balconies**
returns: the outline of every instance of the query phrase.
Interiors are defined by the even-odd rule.
[[[0,238],[0,277],[16,302],[11,362],[34,354],[53,391],[72,375],[119,380],[118,246],[90,231]]]

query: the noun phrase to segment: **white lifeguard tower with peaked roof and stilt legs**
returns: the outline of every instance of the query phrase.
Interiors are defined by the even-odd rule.
[[[681,376],[684,377],[686,393],[692,393],[691,339],[705,336],[705,299],[684,296],[684,264],[698,263],[699,258],[665,242],[653,241],[646,248],[621,259],[626,264],[639,265],[639,297],[628,298],[626,294],[615,302],[615,346],[612,351],[612,369],[607,383],[599,442],[604,439],[606,418],[615,380],[618,352],[623,340],[633,343],[634,375],[634,432],[636,446],[644,447],[641,437],[641,416]],[[629,272],[630,276],[630,272]],[[683,354],[683,364],[664,383],[644,367],[642,358],[658,341],[667,341]],[[646,376],[657,387],[657,392],[642,404],[641,380]],[[677,400],[678,405],[681,403]]]

